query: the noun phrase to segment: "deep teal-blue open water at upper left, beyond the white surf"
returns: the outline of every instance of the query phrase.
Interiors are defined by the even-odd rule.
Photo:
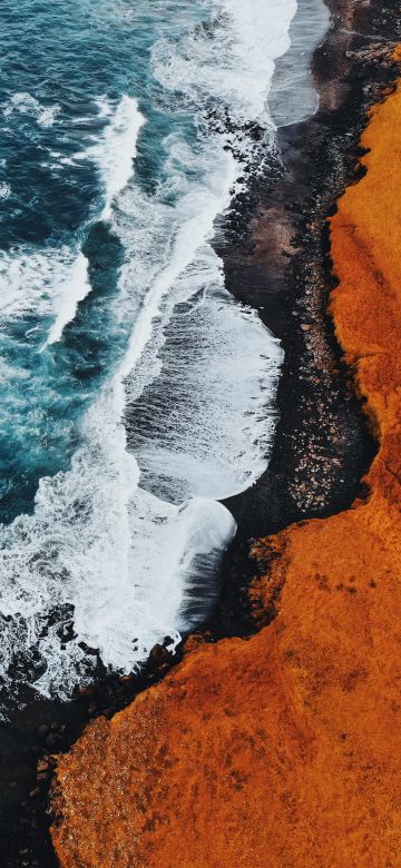
[[[3,0],[0,9],[1,250],[25,262],[12,292],[17,316],[0,319],[0,519],[30,512],[38,481],[66,468],[79,443],[79,421],[126,345],[127,328],[113,319],[124,251],[98,221],[105,196],[99,167],[77,152],[100,140],[109,118],[98,100],[118,106],[136,98],[147,124],[138,144],[136,179],[156,188],[168,134],[196,138],[190,111],[163,106],[150,49],[200,19],[205,3],[131,0]],[[53,114],[52,114],[53,112]],[[66,159],[72,158],[70,162]],[[51,295],[59,268],[55,251],[81,247],[91,292],[62,339],[40,352],[53,310],[23,309],[23,295],[42,279]],[[35,257],[39,257],[38,262]],[[3,294],[4,295],[4,294]],[[1,305],[1,296],[0,296]]]

